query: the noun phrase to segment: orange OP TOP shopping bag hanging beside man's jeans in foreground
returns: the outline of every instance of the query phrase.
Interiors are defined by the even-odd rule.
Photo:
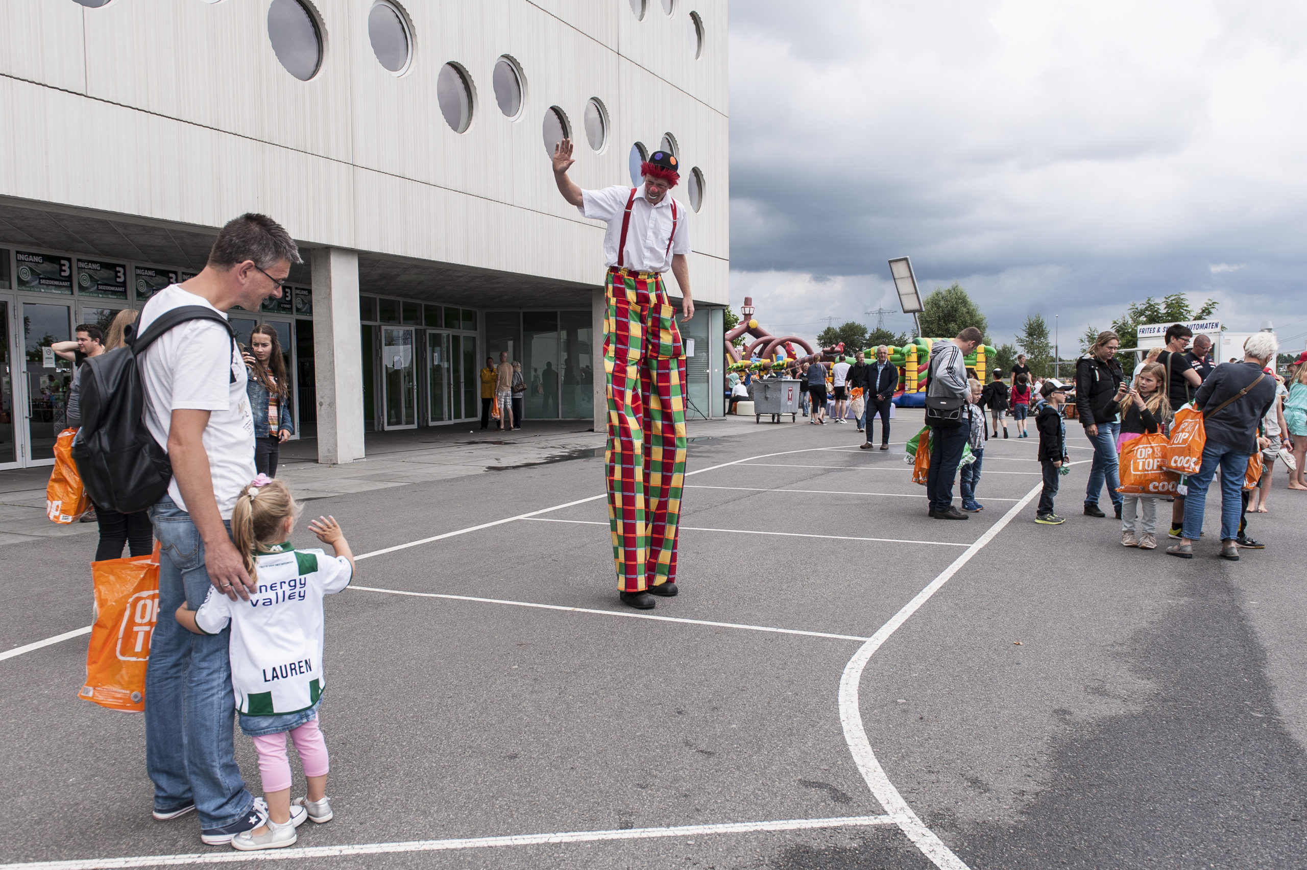
[[[145,662],[159,610],[158,545],[153,555],[91,562],[90,570],[97,615],[86,648],[86,683],[77,695],[108,709],[144,712]]]

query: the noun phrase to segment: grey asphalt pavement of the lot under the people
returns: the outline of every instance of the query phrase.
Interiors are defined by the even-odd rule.
[[[356,554],[400,549],[327,600],[336,818],[277,866],[1303,866],[1300,496],[1274,492],[1249,526],[1266,549],[1238,563],[1214,494],[1193,560],[1124,549],[1081,513],[1091,453],[1068,423],[1064,525],[1022,504],[1034,439],[989,442],[983,512],[931,520],[915,419],[887,452],[852,425],[691,425],[682,592],[651,614],[617,602],[589,451],[315,498]],[[89,623],[93,550],[0,547],[4,649]],[[946,846],[932,863],[855,764],[839,686],[959,556],[857,681],[889,788]],[[0,862],[223,853],[193,815],[150,818],[141,717],[76,696],[85,651],[0,661]]]

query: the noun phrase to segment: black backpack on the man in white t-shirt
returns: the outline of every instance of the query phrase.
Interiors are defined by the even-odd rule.
[[[221,323],[235,342],[226,317],[204,306],[166,311],[144,333],[123,330],[124,347],[82,362],[78,374],[81,428],[73,442],[73,462],[95,507],[136,513],[167,492],[173,464],[167,451],[145,426],[145,385],[139,357],[169,329],[191,320]],[[233,379],[235,375],[233,375]]]

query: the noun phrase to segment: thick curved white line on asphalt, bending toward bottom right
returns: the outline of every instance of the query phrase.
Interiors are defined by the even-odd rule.
[[[890,779],[885,775],[885,768],[881,763],[876,760],[876,752],[872,751],[872,743],[867,737],[867,729],[863,726],[863,712],[859,708],[857,700],[857,685],[863,678],[863,669],[867,668],[867,662],[870,661],[872,654],[881,648],[890,635],[898,631],[899,626],[907,622],[908,617],[916,613],[921,605],[931,600],[931,597],[948,583],[953,575],[958,572],[967,562],[971,560],[976,553],[983,550],[987,543],[993,541],[1000,532],[1002,532],[1009,523],[1027,506],[1030,502],[1039,495],[1043,489],[1043,483],[1034,487],[1026,492],[1025,498],[1012,506],[1012,508],[1002,515],[997,523],[989,526],[980,538],[967,547],[966,553],[959,555],[953,560],[948,568],[940,572],[940,575],[932,580],[921,592],[916,593],[911,601],[903,605],[903,609],[894,614],[889,622],[881,626],[870,640],[868,640],[863,647],[853,653],[853,657],[848,660],[844,666],[844,673],[839,679],[839,721],[844,726],[844,742],[848,743],[848,751],[853,755],[853,763],[857,764],[857,769],[863,773],[863,779],[867,780],[867,785],[872,789],[872,794],[876,799],[881,802],[881,806],[894,816],[895,823],[899,830],[906,833],[916,848],[931,860],[935,866],[940,870],[968,870],[967,865],[955,854],[949,846],[944,845],[944,841],[935,835],[931,828],[925,827],[925,823],[918,818],[916,813],[907,805],[899,790],[894,788]]]

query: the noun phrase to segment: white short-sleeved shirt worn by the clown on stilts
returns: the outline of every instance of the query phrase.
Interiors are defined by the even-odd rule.
[[[608,231],[604,233],[604,265],[614,266],[631,188],[617,184],[599,191],[582,191],[580,195],[578,210],[582,216],[608,223]],[[681,202],[676,204],[676,238],[672,238],[672,250],[668,251],[670,234],[672,195],[664,196],[657,205],[650,205],[644,199],[644,185],[640,184],[635,188],[635,201],[631,204],[622,266],[634,272],[667,272],[672,268],[674,255],[690,252],[690,209]]]

